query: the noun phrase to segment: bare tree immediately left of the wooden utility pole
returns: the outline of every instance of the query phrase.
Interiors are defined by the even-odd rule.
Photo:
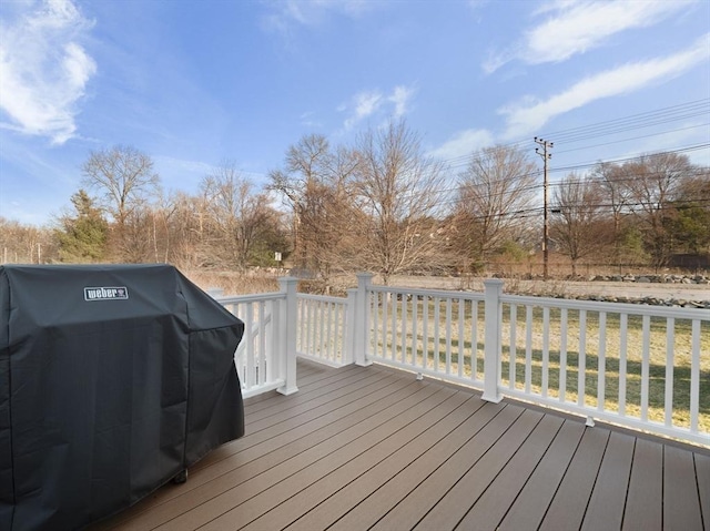
[[[535,200],[537,170],[525,152],[494,146],[474,153],[459,175],[456,201],[458,245],[469,263],[485,264],[514,241]]]

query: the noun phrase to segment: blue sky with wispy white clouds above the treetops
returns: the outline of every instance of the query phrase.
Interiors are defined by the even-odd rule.
[[[666,150],[710,164],[710,1],[0,1],[9,219],[51,222],[91,151],[136,147],[194,193],[226,161],[262,185],[304,134],[392,118],[452,178],[487,145],[535,157],[534,136],[552,180]]]

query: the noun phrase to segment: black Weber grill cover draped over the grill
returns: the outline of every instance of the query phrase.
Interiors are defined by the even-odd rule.
[[[0,529],[77,529],[244,433],[244,324],[166,265],[0,267]]]

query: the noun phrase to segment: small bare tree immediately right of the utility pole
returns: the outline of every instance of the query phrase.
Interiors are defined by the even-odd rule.
[[[599,252],[612,241],[605,205],[604,190],[594,177],[569,174],[552,192],[550,224],[552,239],[571,262],[572,276],[577,275],[580,258]]]

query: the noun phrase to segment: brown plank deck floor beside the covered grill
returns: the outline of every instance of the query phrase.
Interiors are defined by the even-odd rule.
[[[92,529],[710,529],[707,450],[381,366],[298,361],[298,388]]]

